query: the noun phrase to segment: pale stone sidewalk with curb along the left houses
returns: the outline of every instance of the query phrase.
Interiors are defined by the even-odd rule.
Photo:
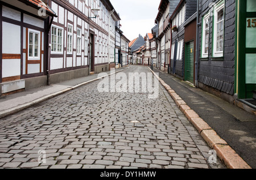
[[[118,68],[114,73],[125,70],[127,67]],[[129,68],[129,67],[128,67]],[[104,72],[108,75],[112,71]],[[0,97],[0,118],[10,115],[20,110],[26,109],[32,105],[48,100],[49,98],[61,95],[65,92],[72,91],[81,85],[94,82],[100,79],[99,74],[85,76],[82,78],[67,80],[56,84],[47,85],[44,87],[29,89],[23,92],[14,93],[8,96]]]

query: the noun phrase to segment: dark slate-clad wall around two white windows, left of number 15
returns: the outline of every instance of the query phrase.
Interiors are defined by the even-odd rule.
[[[218,2],[220,1],[200,1],[200,23],[202,17]],[[224,55],[220,58],[213,58],[213,16],[210,15],[209,57],[202,58],[199,55],[199,87],[211,89],[214,92],[217,89],[228,95],[234,95],[236,1],[225,0],[224,10]],[[199,54],[201,54],[201,36],[202,26],[199,27]]]

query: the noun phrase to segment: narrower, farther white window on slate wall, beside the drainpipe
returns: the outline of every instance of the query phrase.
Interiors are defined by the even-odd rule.
[[[208,57],[209,53],[209,14],[203,17],[203,35],[202,35],[202,50],[201,50],[201,57]]]

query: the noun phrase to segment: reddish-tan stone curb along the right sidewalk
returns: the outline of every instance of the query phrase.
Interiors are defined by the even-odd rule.
[[[229,169],[251,169],[251,167],[232,149],[224,139],[220,138],[199,115],[189,108],[189,106],[183,101],[179,95],[167,85],[150,67],[148,69],[154,74],[154,76],[159,80],[159,82],[164,86],[166,91],[174,99],[175,103],[188,118],[189,122],[196,128],[199,134],[203,137],[205,142],[210,148],[214,149],[217,153],[218,158],[224,162]]]

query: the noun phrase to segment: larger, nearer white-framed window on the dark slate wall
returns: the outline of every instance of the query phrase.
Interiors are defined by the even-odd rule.
[[[224,50],[224,3],[214,7],[213,57],[222,57]]]

